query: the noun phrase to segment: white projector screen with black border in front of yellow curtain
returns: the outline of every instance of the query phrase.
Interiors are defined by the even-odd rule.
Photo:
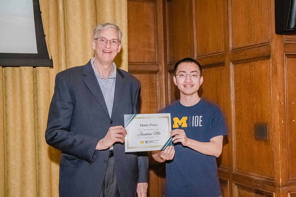
[[[53,66],[39,0],[0,0],[0,66]]]

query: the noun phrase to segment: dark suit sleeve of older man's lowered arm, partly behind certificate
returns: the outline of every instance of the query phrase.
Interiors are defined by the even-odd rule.
[[[136,102],[134,105],[135,114],[140,113],[140,93],[141,93],[141,85],[139,83],[139,87],[136,94]],[[138,183],[148,183],[148,167],[149,160],[147,152],[137,152],[138,154],[138,168],[139,168],[139,180]]]

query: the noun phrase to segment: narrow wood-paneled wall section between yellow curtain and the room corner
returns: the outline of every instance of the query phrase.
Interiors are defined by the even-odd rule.
[[[128,0],[128,71],[141,82],[140,113],[165,107],[162,2]],[[147,196],[162,196],[165,164],[149,155]]]

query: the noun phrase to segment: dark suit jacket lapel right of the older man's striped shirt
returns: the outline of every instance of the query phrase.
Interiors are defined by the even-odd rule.
[[[116,110],[119,107],[120,101],[122,99],[122,95],[124,94],[124,88],[126,86],[126,82],[124,80],[124,75],[120,71],[120,69],[116,69],[116,81],[115,81],[115,93],[114,93],[114,101],[113,101],[113,107],[112,107],[112,114],[111,119],[113,118]]]

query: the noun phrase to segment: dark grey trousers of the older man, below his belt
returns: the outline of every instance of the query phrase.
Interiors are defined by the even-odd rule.
[[[107,171],[99,197],[120,197],[114,172],[114,157],[110,157],[108,160]]]

